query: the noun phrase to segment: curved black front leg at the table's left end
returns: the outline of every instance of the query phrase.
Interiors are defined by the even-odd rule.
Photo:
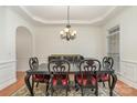
[[[27,74],[24,78],[24,82],[27,84],[27,87],[30,91],[31,96],[34,96],[33,89],[32,89],[31,83],[30,83],[30,76],[31,76],[31,74]]]

